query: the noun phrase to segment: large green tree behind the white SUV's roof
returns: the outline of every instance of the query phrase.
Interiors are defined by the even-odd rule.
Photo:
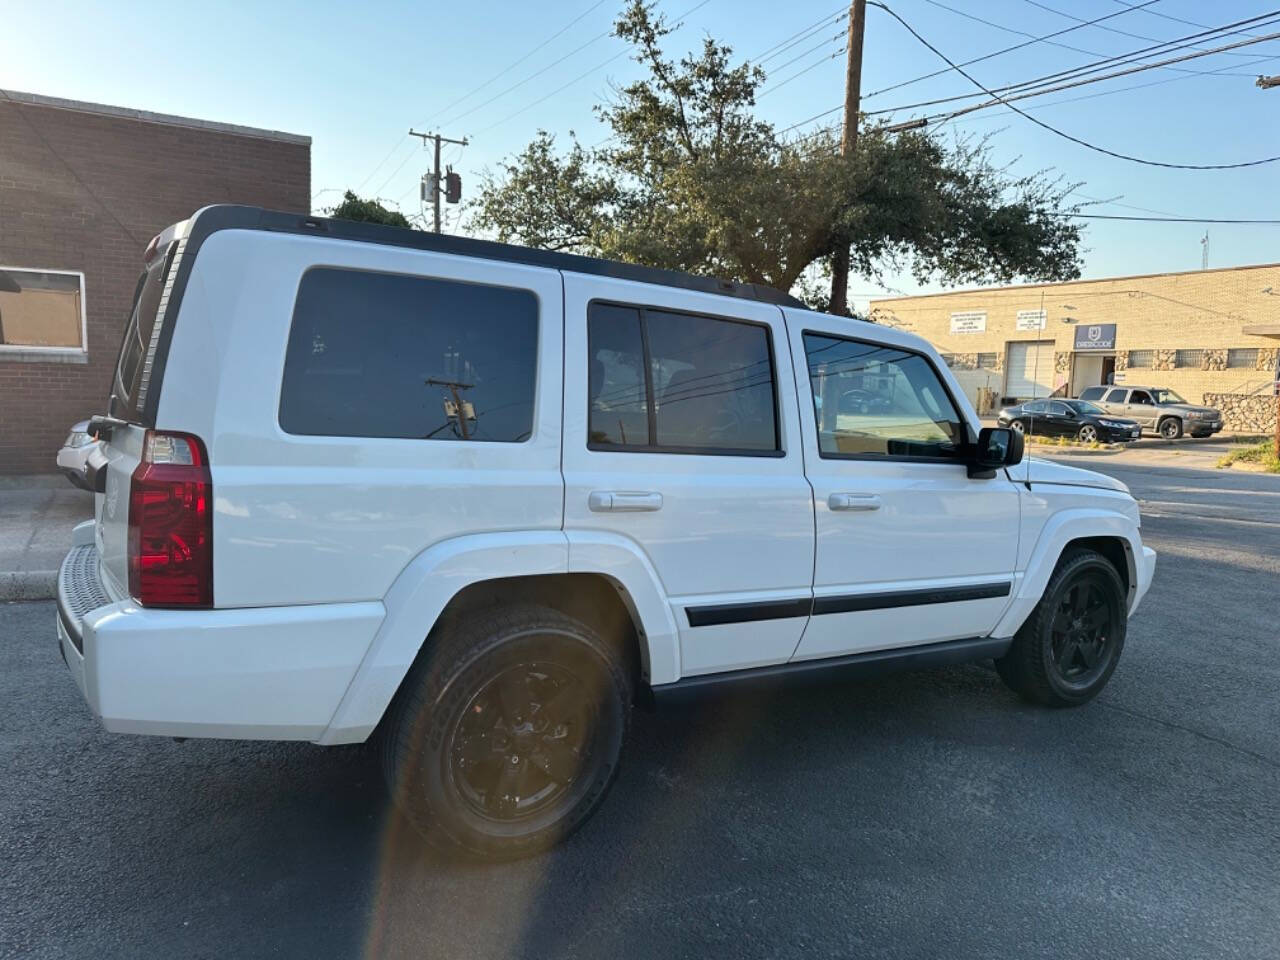
[[[838,132],[786,138],[755,118],[764,72],[712,38],[678,61],[653,4],[614,24],[648,76],[598,114],[599,148],[557,152],[539,132],[481,184],[472,225],[499,239],[824,293],[804,283],[841,244],[851,271],[909,269],[945,283],[1079,275],[1071,187],[997,169],[983,142],[865,124],[858,150]],[[572,134],[570,134],[572,137]],[[799,282],[799,287],[797,287]]]

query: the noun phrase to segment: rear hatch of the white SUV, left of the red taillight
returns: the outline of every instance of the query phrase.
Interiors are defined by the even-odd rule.
[[[108,413],[115,422],[101,444],[106,479],[96,485],[95,541],[109,589],[118,595],[128,593],[129,480],[141,462],[147,428],[155,422],[160,384],[151,374],[163,326],[173,323],[165,307],[186,225],[170,227],[147,246],[111,380]]]

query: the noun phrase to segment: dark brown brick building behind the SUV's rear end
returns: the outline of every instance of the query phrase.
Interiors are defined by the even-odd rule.
[[[0,474],[105,411],[148,241],[221,202],[307,212],[311,138],[0,93]]]

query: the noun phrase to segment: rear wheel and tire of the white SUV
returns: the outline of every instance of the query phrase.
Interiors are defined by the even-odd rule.
[[[383,773],[433,846],[527,856],[604,799],[630,708],[622,652],[591,627],[534,604],[477,613],[429,637],[404,677],[381,733]]]

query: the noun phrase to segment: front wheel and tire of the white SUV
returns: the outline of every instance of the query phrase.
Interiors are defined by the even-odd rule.
[[[1125,602],[1124,581],[1106,557],[1087,549],[1065,553],[1032,616],[996,660],[1000,678],[1044,707],[1088,703],[1120,662],[1128,627]],[[1082,626],[1082,614],[1093,623]]]

